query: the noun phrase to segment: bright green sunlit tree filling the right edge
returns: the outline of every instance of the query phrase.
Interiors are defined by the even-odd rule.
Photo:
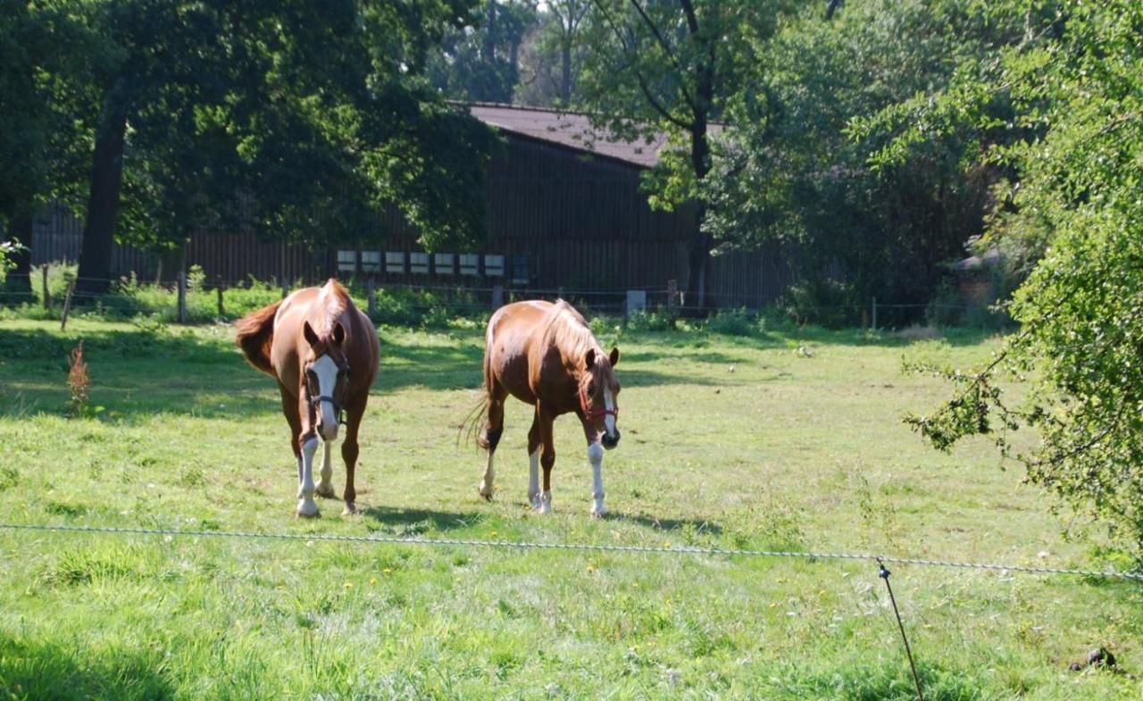
[[[936,94],[887,112],[895,136],[878,158],[952,126],[998,128],[988,105],[1015,106],[999,125],[1009,145],[986,157],[1009,165],[1013,186],[986,233],[1042,241],[1010,310],[1021,330],[985,367],[948,377],[954,396],[908,421],[941,449],[990,435],[1031,480],[1103,524],[1143,560],[1143,7],[1126,0],[1001,2],[1025,18],[1023,41],[960,66]],[[1005,379],[1032,384],[1012,401]],[[1017,451],[1008,433],[1038,432]]]

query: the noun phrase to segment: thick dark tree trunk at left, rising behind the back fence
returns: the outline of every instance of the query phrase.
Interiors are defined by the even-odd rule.
[[[127,111],[105,101],[104,118],[91,159],[91,189],[87,200],[87,221],[79,256],[75,292],[106,292],[111,278],[111,255],[119,223],[119,191],[123,180],[123,138]]]

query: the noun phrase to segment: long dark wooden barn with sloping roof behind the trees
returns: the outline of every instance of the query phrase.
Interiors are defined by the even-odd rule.
[[[655,212],[640,189],[658,160],[660,142],[631,143],[592,130],[586,115],[502,104],[471,104],[470,113],[493,126],[503,145],[487,177],[488,239],[480,250],[431,254],[417,232],[393,210],[377,232],[381,245],[307,248],[263,241],[251,234],[203,232],[185,248],[185,264],[207,280],[313,281],[337,274],[368,277],[382,285],[490,288],[518,293],[621,293],[665,290],[687,284],[686,240],[694,226],[689,207]],[[37,222],[33,263],[79,254],[81,226],[66,214]],[[182,257],[182,256],[179,256]],[[118,247],[117,274],[167,277],[152,255]],[[760,306],[792,281],[782,252],[764,249],[712,258],[714,305]]]

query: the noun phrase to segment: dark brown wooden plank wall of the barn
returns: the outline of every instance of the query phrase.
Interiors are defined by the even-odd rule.
[[[642,169],[606,157],[591,156],[539,140],[510,135],[488,170],[489,240],[479,252],[505,257],[503,278],[458,274],[389,273],[384,253],[422,250],[416,231],[395,208],[379,217],[377,230],[366,232],[358,250],[382,253],[382,270],[371,274],[381,284],[490,287],[504,285],[525,292],[600,292],[628,288],[665,288],[670,279],[687,285],[685,242],[694,212],[653,212],[640,190]],[[66,214],[50,213],[33,237],[37,264],[77,260],[81,225]],[[368,241],[382,241],[379,244]],[[336,248],[281,241],[262,241],[249,234],[201,233],[185,250],[187,265],[201,265],[208,284],[259,280],[314,282],[351,272],[337,271]],[[137,271],[154,274],[157,257],[117,246],[117,274]],[[527,285],[513,284],[513,261],[526,256]],[[168,256],[169,257],[169,256]],[[712,301],[719,306],[761,306],[774,301],[793,281],[786,257],[769,247],[751,253],[714,256],[709,270]],[[169,268],[169,264],[168,264]],[[483,272],[481,256],[481,272]],[[167,277],[167,276],[165,276]]]

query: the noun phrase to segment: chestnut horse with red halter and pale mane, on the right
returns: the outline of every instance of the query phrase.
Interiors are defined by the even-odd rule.
[[[614,367],[620,350],[605,355],[588,328],[583,316],[560,300],[514,302],[496,310],[488,320],[485,336],[485,427],[477,443],[488,451],[480,494],[493,496],[493,457],[504,432],[504,399],[512,395],[535,407],[528,431],[531,508],[547,513],[552,508],[552,467],[555,446],[552,423],[557,416],[575,413],[583,423],[591,463],[592,516],[604,508],[604,449],[620,443],[615,423],[620,409],[616,398],[620,383]],[[479,416],[477,417],[479,421]],[[539,489],[538,467],[544,467],[544,488]]]

